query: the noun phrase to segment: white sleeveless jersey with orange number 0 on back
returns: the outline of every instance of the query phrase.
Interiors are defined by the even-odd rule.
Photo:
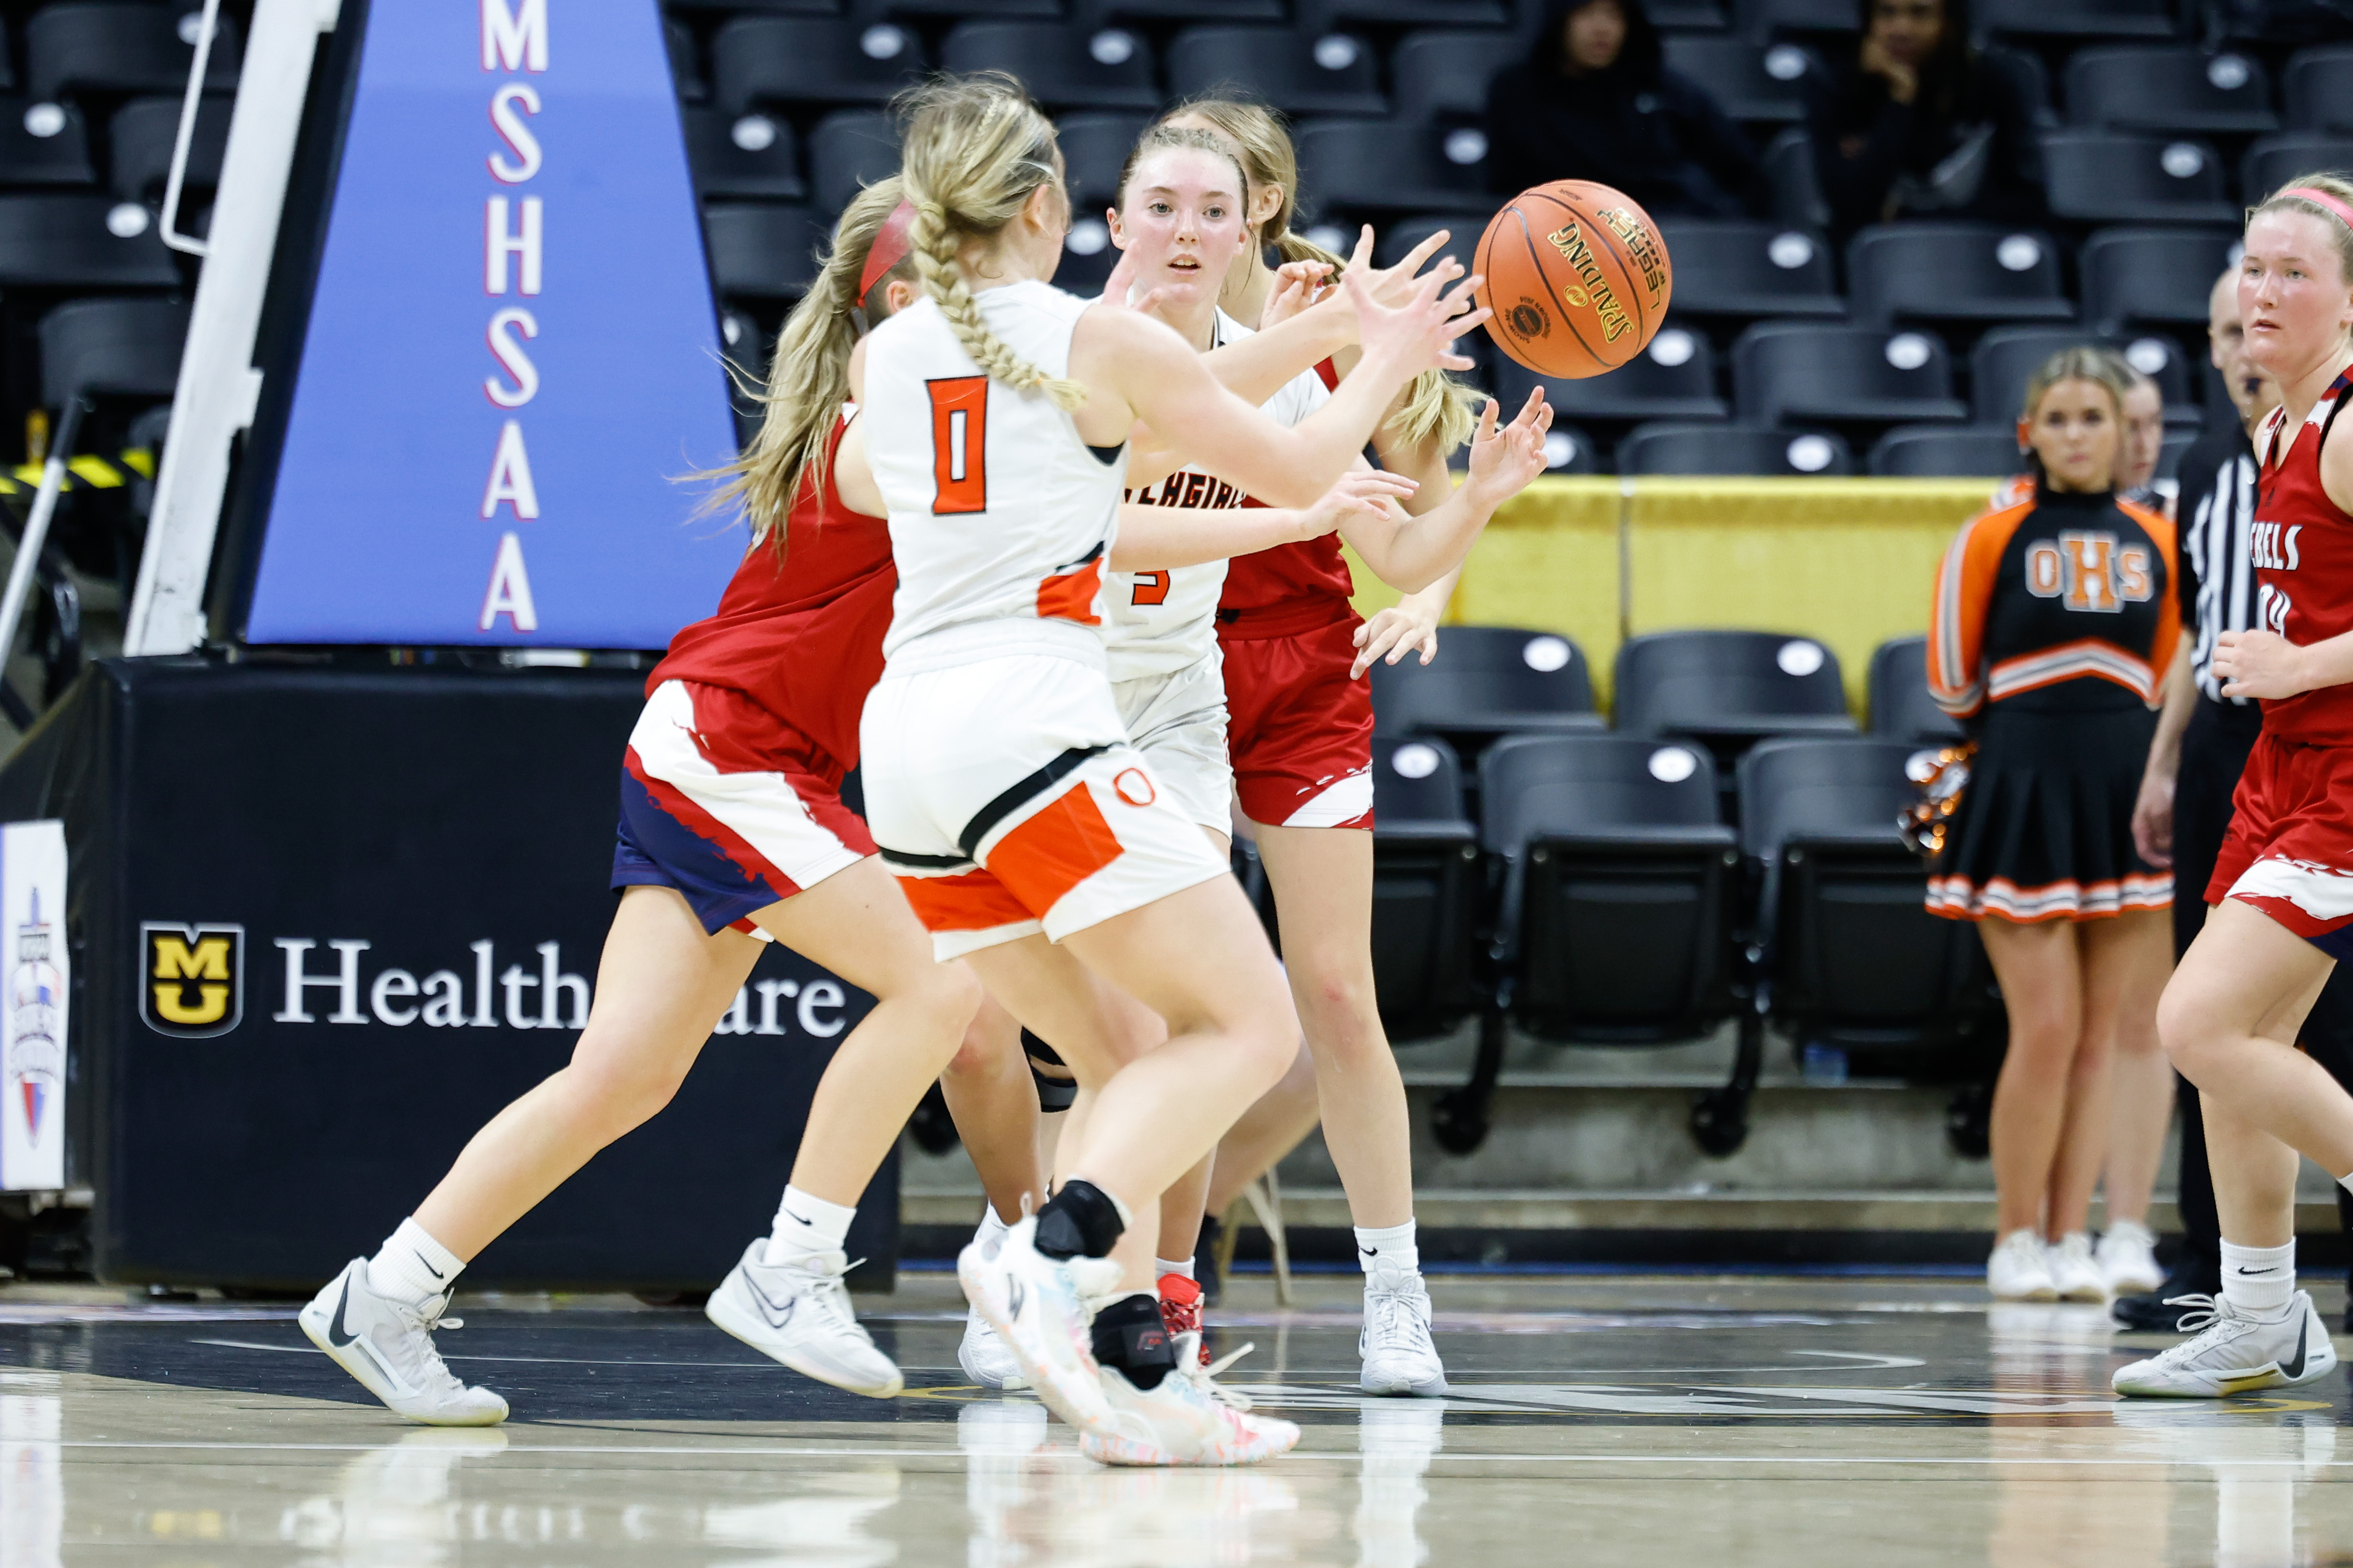
[[[1047,376],[1071,371],[1089,301],[1042,282],[974,299],[1007,348]],[[868,339],[864,418],[899,567],[885,656],[974,621],[1104,623],[1125,447],[1106,461],[1052,397],[984,376],[929,299]]]

